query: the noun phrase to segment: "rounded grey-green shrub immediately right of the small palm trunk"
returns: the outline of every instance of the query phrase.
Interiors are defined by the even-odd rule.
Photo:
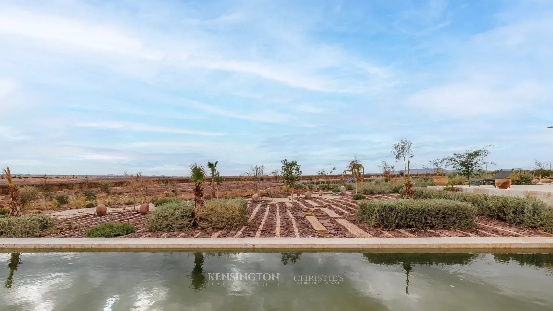
[[[247,224],[247,211],[244,199],[213,199],[196,210],[196,217],[204,229],[235,229]]]

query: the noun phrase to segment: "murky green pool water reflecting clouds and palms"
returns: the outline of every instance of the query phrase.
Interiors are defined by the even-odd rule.
[[[0,310],[552,310],[551,253],[0,253]]]

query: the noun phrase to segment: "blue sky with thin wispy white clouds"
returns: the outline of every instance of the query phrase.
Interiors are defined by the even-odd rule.
[[[551,1],[0,1],[0,47],[16,173],[553,154]]]

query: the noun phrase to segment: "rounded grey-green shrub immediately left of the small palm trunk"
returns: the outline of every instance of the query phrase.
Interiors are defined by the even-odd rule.
[[[178,231],[192,227],[192,201],[175,201],[150,211],[146,231]]]

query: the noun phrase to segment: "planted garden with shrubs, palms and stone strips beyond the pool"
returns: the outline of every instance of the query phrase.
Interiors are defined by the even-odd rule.
[[[218,162],[190,166],[183,183],[125,174],[124,183],[66,184],[53,191],[17,185],[9,168],[0,208],[0,237],[416,237],[549,236],[551,206],[539,199],[474,194],[458,185],[488,178],[487,148],[434,159],[434,174],[411,174],[412,143],[392,151],[403,171],[382,161],[382,174],[365,175],[354,157],[341,175],[336,166],[302,176],[295,160],[264,174],[252,165],[240,178],[221,177]],[[454,170],[445,173],[444,168]],[[547,183],[551,171],[535,160],[534,170],[514,170],[513,184]],[[351,173],[349,176],[347,173]],[[443,183],[442,189],[426,186]],[[280,180],[279,180],[280,179]],[[87,182],[88,184],[88,182]],[[235,188],[236,187],[236,188]],[[75,189],[78,188],[78,189]],[[85,188],[85,189],[82,189]]]

